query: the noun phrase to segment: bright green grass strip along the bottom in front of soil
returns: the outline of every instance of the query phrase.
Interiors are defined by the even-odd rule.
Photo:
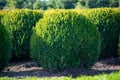
[[[111,74],[102,74],[96,76],[81,76],[77,78],[72,77],[60,77],[60,78],[38,78],[38,77],[26,77],[22,79],[1,77],[0,80],[120,80],[120,71]]]

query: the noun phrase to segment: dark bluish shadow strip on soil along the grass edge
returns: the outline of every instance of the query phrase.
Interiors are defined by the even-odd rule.
[[[78,77],[82,75],[93,76],[98,74],[110,74],[112,72],[116,72],[118,70],[92,70],[92,69],[73,69],[73,70],[65,70],[62,72],[47,72],[41,70],[31,70],[31,71],[19,71],[19,72],[1,72],[1,77],[61,77],[61,76],[72,76]]]

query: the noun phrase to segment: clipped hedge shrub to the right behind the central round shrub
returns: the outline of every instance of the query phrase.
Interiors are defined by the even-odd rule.
[[[120,13],[117,11],[118,9],[100,8],[81,11],[99,29],[102,41],[101,59],[117,56],[120,31]]]

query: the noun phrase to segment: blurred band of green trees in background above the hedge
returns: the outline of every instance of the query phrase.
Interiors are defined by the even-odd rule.
[[[0,9],[73,9],[120,7],[120,0],[0,0]]]

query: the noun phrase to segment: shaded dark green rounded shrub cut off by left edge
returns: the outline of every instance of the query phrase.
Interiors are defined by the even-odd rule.
[[[11,57],[11,40],[7,30],[0,22],[0,71],[8,65]]]

